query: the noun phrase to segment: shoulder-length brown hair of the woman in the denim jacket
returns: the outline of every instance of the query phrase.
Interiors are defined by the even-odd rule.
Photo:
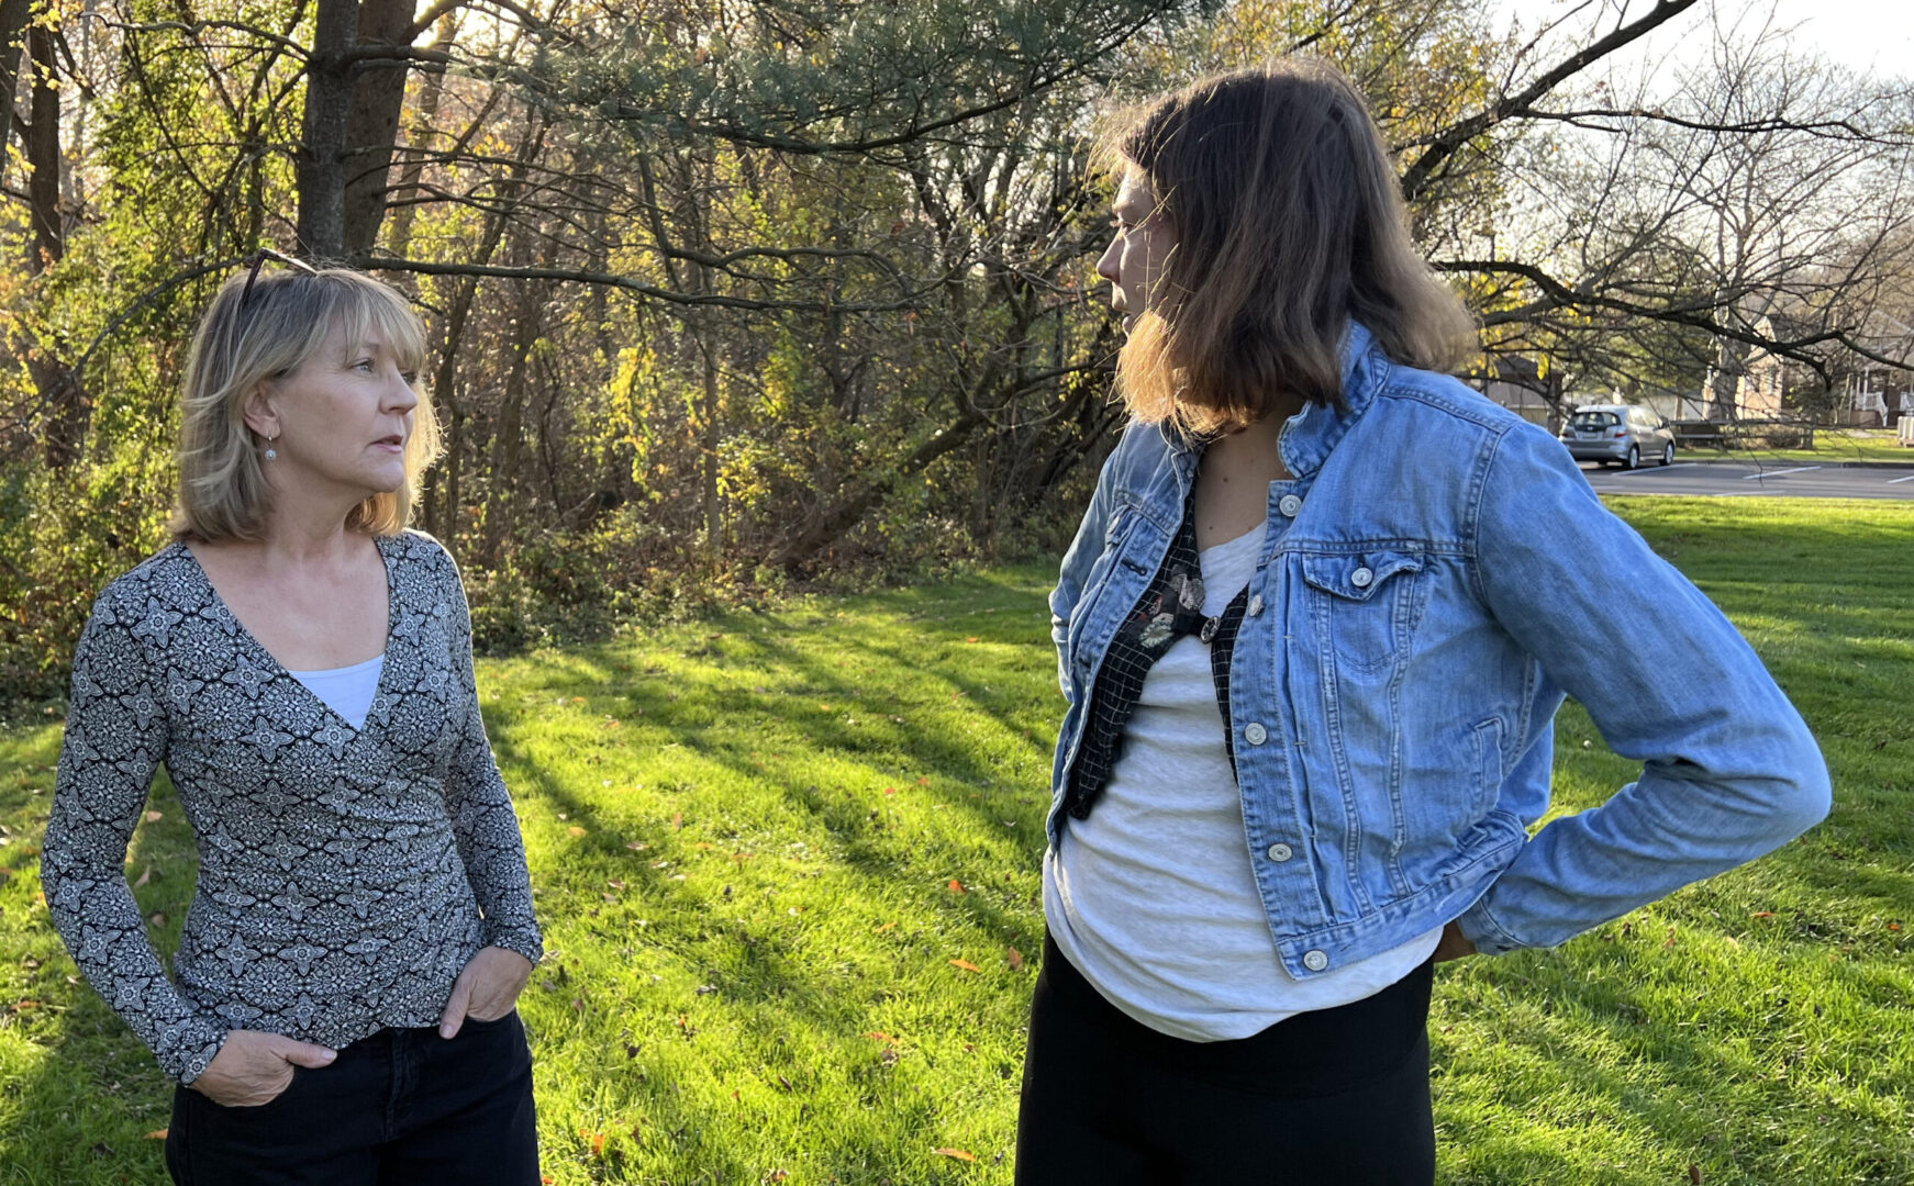
[[[1192,82],[1124,121],[1104,157],[1148,182],[1177,237],[1118,358],[1137,419],[1210,434],[1296,398],[1340,407],[1349,318],[1405,365],[1476,350],[1468,310],[1409,239],[1361,92],[1326,61]]]

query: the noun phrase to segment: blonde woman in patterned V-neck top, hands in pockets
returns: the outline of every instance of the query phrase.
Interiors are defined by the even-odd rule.
[[[392,289],[260,253],[193,339],[174,539],[75,654],[40,876],[180,1085],[176,1182],[538,1182],[524,847],[457,568],[406,530],[423,356]],[[172,979],[124,878],[159,765],[201,861]]]

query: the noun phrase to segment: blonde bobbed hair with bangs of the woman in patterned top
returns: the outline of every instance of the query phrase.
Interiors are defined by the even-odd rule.
[[[172,513],[178,539],[258,539],[272,488],[260,440],[245,423],[245,400],[262,383],[285,379],[325,348],[333,331],[346,348],[381,337],[402,371],[425,365],[425,327],[390,287],[350,268],[272,272],[226,281],[212,298],[186,362],[180,400],[180,492]],[[346,528],[394,536],[412,520],[419,474],[438,457],[438,419],[425,392],[412,411],[406,480],[346,515]]]

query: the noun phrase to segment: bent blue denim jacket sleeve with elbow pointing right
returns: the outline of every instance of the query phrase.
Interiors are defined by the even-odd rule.
[[[1828,813],[1828,767],[1801,714],[1556,440],[1527,425],[1501,440],[1478,526],[1495,618],[1615,754],[1642,763],[1606,803],[1550,821],[1458,918],[1480,951],[1552,947]]]

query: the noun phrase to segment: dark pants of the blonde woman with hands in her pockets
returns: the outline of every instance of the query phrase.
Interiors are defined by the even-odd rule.
[[[538,1186],[532,1052],[511,1012],[381,1029],[329,1067],[293,1069],[258,1108],[172,1094],[167,1171],[180,1186]]]

